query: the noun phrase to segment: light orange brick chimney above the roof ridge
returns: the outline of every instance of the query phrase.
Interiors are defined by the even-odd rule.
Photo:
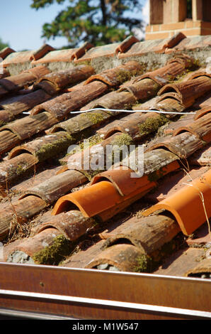
[[[149,0],[146,40],[211,35],[211,0]]]

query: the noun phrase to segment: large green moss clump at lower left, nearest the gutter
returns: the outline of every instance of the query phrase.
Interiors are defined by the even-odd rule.
[[[38,264],[58,265],[72,250],[72,242],[64,235],[55,237],[51,246],[41,249],[33,255],[33,260]]]

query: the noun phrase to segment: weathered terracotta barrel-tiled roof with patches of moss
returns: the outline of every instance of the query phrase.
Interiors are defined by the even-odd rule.
[[[211,274],[210,44],[178,33],[1,51],[1,261]],[[67,151],[74,144],[82,151]],[[108,145],[123,144],[135,148],[132,164],[113,166],[110,153],[107,166]],[[193,248],[200,265],[181,266]]]

